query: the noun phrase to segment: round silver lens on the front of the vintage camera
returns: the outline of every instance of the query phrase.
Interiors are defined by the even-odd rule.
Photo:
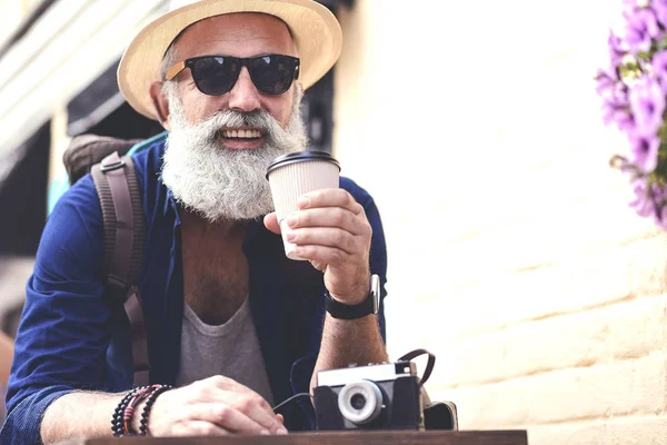
[[[371,423],[384,407],[382,392],[370,380],[348,383],[338,394],[340,414],[356,425]]]

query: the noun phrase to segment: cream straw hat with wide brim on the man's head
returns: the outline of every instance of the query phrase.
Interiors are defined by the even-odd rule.
[[[161,80],[160,63],[173,39],[199,20],[233,12],[263,12],[287,23],[301,59],[299,81],[303,89],[325,76],[340,56],[340,24],[327,8],[316,1],[193,1],[150,22],[127,48],[118,67],[118,86],[130,106],[141,115],[157,120],[149,93],[150,85]]]

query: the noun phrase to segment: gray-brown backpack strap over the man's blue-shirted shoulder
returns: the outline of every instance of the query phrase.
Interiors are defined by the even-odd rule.
[[[149,382],[143,312],[138,291],[146,233],[139,182],[131,157],[112,152],[91,169],[104,224],[106,293],[122,301],[132,337],[135,386]]]

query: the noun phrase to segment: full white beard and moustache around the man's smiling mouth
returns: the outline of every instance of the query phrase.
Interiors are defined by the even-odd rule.
[[[278,156],[308,145],[297,90],[287,128],[267,111],[222,110],[198,123],[188,122],[178,90],[166,82],[171,130],[165,149],[162,182],[176,200],[211,222],[260,218],[273,211],[267,167]],[[252,127],[265,132],[263,147],[232,150],[220,145],[223,127]]]

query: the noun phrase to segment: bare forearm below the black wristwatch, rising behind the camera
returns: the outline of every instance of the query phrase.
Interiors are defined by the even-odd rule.
[[[342,368],[350,363],[367,365],[387,360],[387,348],[376,315],[344,320],[327,314],[310,387],[317,386],[319,370]]]

